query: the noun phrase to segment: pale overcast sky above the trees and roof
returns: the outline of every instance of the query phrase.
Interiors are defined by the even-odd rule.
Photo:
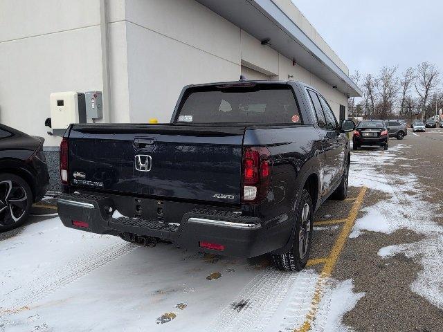
[[[443,73],[441,0],[293,0],[353,73],[428,61]]]

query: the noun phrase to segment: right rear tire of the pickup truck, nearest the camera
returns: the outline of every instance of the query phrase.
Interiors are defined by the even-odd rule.
[[[283,271],[300,271],[309,259],[312,242],[312,199],[303,190],[296,210],[296,231],[292,248],[284,254],[272,255],[274,265]]]

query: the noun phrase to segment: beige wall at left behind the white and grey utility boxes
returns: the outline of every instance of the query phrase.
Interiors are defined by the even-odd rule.
[[[109,6],[113,118],[129,122],[125,2]],[[49,95],[102,91],[100,1],[0,1],[0,122],[60,145],[44,126]]]

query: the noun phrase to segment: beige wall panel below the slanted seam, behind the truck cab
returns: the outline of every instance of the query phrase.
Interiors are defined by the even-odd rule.
[[[238,80],[240,75],[239,64],[131,23],[127,57],[131,122],[169,122],[183,86]]]

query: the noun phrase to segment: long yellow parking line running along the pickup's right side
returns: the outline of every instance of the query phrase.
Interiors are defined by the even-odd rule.
[[[312,299],[311,308],[309,309],[309,313],[307,313],[306,315],[305,322],[302,324],[302,326],[300,326],[299,329],[294,329],[294,332],[307,332],[311,329],[311,324],[312,322],[314,322],[318,311],[318,304],[320,304],[320,300],[323,297],[323,288],[325,286],[325,283],[327,282],[327,278],[331,275],[332,270],[334,269],[338,261],[338,257],[340,257],[341,251],[345,246],[347,237],[349,237],[357,214],[359,214],[361,204],[363,203],[363,197],[365,196],[366,190],[366,187],[361,188],[359,196],[357,196],[354,204],[352,205],[351,212],[345,221],[345,225],[343,225],[343,228],[338,235],[338,239],[332,247],[329,257],[325,259],[325,265],[323,266],[323,270],[321,271],[320,277],[318,278],[317,284],[315,286],[314,298]]]

